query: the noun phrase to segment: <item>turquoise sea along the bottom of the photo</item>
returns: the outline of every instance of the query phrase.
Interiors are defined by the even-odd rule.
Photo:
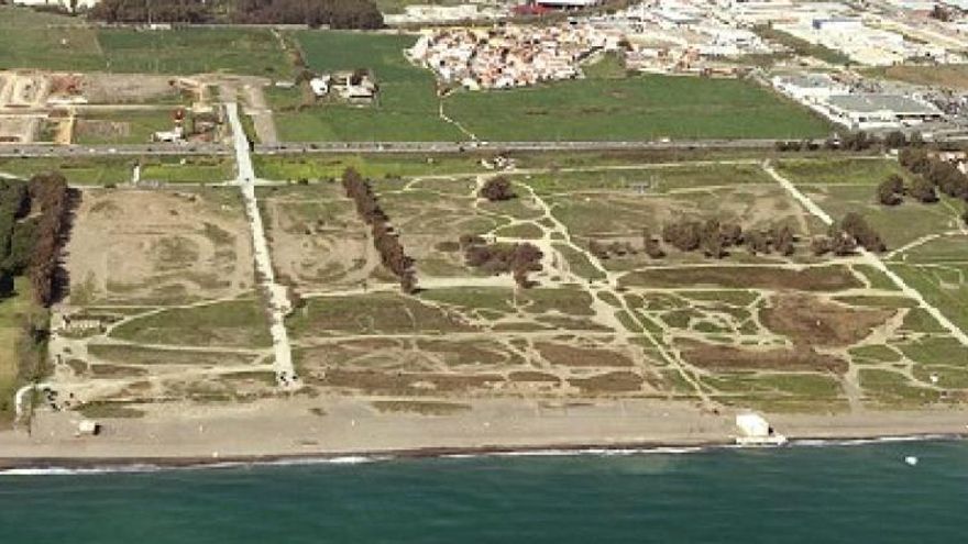
[[[964,543],[968,442],[0,475],[4,544],[376,542]]]

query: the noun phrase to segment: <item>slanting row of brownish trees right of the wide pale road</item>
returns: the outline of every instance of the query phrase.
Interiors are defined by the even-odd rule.
[[[376,195],[370,182],[363,179],[353,168],[346,168],[343,173],[343,189],[356,204],[356,213],[360,219],[370,225],[373,236],[373,246],[380,253],[381,263],[400,281],[400,289],[406,293],[417,290],[417,273],[414,270],[415,260],[404,252],[399,236],[394,232],[377,202]]]

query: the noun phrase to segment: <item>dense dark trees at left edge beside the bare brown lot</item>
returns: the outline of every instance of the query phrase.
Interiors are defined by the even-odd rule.
[[[0,297],[11,295],[13,278],[26,274],[36,302],[51,306],[69,214],[67,180],[61,174],[0,180]]]

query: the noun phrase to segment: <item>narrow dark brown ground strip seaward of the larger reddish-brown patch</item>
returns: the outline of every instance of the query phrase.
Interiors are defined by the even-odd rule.
[[[825,370],[847,371],[847,362],[801,346],[792,349],[743,349],[733,346],[685,342],[682,357],[711,370]]]

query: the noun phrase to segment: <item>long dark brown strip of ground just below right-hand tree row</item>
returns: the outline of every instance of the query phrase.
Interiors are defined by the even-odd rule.
[[[798,291],[836,291],[864,287],[843,266],[823,266],[791,270],[776,267],[660,268],[623,276],[623,287],[715,286],[733,289],[793,289]]]

